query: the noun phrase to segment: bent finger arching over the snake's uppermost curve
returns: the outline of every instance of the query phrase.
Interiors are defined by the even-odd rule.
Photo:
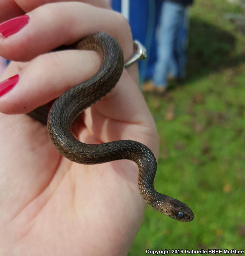
[[[125,60],[133,54],[130,27],[117,12],[79,2],[64,2],[42,5],[27,15],[29,21],[24,28],[7,38],[0,38],[0,55],[4,58],[28,61],[99,31],[118,41]]]

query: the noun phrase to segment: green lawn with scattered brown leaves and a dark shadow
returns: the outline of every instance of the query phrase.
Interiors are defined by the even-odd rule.
[[[129,255],[244,250],[245,35],[223,19],[226,12],[241,9],[195,1],[187,79],[164,96],[145,95],[161,142],[155,188],[188,204],[195,219],[178,222],[147,206]]]

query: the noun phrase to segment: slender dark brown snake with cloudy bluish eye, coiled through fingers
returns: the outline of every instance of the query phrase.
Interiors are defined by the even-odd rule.
[[[157,162],[152,151],[133,140],[117,140],[101,144],[86,144],[77,140],[71,125],[86,108],[105,97],[117,84],[124,68],[124,57],[117,41],[104,32],[82,38],[75,44],[56,50],[93,50],[99,53],[101,64],[97,73],[58,97],[51,108],[38,107],[29,113],[43,124],[57,150],[79,164],[102,164],[120,159],[134,161],[139,169],[138,188],[144,200],[154,209],[183,222],[194,219],[191,209],[181,201],[161,194],[153,183]]]

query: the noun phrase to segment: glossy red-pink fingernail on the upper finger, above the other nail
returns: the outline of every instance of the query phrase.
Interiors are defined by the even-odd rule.
[[[0,24],[0,35],[7,38],[24,28],[30,20],[28,15],[22,15]]]

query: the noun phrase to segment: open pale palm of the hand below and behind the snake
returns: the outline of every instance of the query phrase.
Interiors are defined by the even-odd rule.
[[[75,130],[83,142],[107,142],[103,139],[108,131],[115,131],[112,139],[121,139],[117,125],[134,131],[132,125],[118,124],[95,108],[92,112],[86,111],[85,125],[79,124]],[[125,160],[99,165],[72,163],[54,148],[47,127],[24,115],[1,114],[1,118],[1,136],[6,142],[0,149],[6,177],[0,202],[5,209],[1,239],[7,232],[11,241],[5,243],[14,243],[20,255],[39,255],[36,250],[51,255],[57,248],[59,255],[69,255],[71,250],[72,255],[96,255],[97,250],[110,255],[126,253],[144,209],[136,164]],[[18,129],[13,124],[18,124]],[[11,140],[15,143],[8,143]],[[9,157],[12,160],[4,162]],[[128,229],[130,236],[125,236]],[[28,246],[33,248],[30,254],[26,254]]]

